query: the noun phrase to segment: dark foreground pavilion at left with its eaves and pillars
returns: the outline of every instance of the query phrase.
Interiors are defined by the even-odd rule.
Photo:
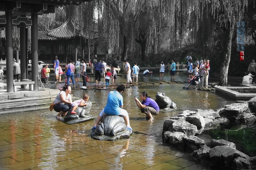
[[[80,5],[91,0],[0,0],[0,28],[5,27],[5,54],[7,92],[14,92],[13,88],[13,39],[12,26],[20,27],[20,69],[21,80],[27,78],[27,38],[26,27],[31,26],[31,60],[32,81],[34,91],[38,91],[38,14],[55,12],[55,7],[62,5]],[[31,16],[31,19],[27,18]]]

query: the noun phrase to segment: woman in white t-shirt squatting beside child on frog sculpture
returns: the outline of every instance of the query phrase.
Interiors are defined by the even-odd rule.
[[[57,119],[65,116],[68,110],[71,108],[72,98],[71,98],[71,87],[69,85],[65,85],[62,88],[62,91],[56,96],[55,100],[53,101],[53,109],[56,112],[59,112],[56,115]],[[72,113],[72,112],[71,112]]]

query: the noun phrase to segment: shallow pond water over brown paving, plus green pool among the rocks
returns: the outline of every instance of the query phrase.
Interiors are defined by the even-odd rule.
[[[139,82],[159,81],[158,74],[139,76]],[[170,75],[167,76],[166,73],[165,80],[169,79]],[[178,81],[186,79],[182,72],[176,76]],[[89,85],[94,84],[93,80],[94,78],[90,78]],[[117,77],[117,84],[125,82],[126,79]],[[46,87],[61,86],[63,84],[50,84]],[[122,94],[124,109],[129,113],[134,133],[129,139],[115,142],[97,141],[90,137],[95,120],[67,125],[63,118],[55,118],[56,112],[49,110],[1,115],[0,169],[205,169],[207,166],[197,164],[191,159],[190,153],[162,142],[164,120],[180,111],[160,113],[154,116],[153,122],[148,122],[133,99],[143,91],[148,92],[153,99],[156,92],[164,92],[183,110],[216,110],[235,102],[223,99],[214,92],[183,90],[183,86],[184,84],[173,83],[126,88]],[[78,98],[87,93],[92,102],[90,114],[97,117],[106,105],[109,91],[78,89],[71,93]],[[216,139],[230,139],[241,148],[241,152],[256,156],[252,139],[255,136],[255,125],[241,131],[232,131],[232,134],[221,127],[208,131],[207,134]]]

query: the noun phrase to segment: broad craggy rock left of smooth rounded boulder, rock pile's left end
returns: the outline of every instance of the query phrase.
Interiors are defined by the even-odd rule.
[[[195,135],[197,131],[197,127],[193,124],[190,124],[184,120],[177,120],[176,122],[172,123],[172,127],[170,127],[171,132],[182,132],[186,136]]]

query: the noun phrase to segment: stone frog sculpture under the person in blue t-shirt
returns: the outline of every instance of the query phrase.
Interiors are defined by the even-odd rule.
[[[93,139],[108,141],[128,138],[131,134],[132,131],[126,128],[124,118],[119,115],[104,116],[97,128],[91,132]]]

